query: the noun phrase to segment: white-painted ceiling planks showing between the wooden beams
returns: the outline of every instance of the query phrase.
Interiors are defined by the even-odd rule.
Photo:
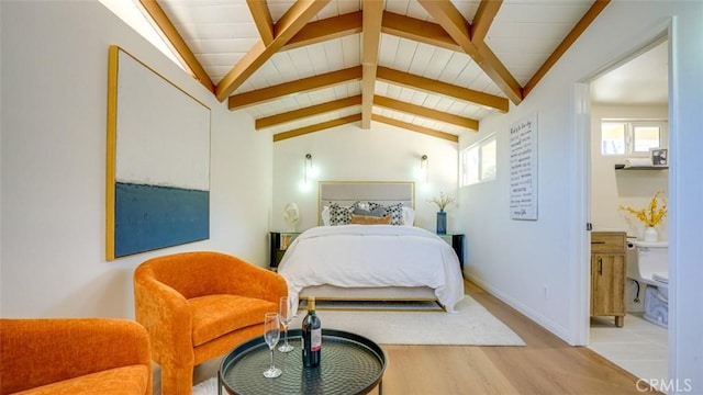
[[[147,0],[140,1],[145,3]],[[249,0],[252,3],[258,0]],[[311,18],[309,23],[355,12],[359,13],[367,1],[369,0],[332,0]],[[495,77],[491,77],[481,66],[483,64],[480,65],[472,56],[461,50],[455,41],[451,42],[453,48],[446,48],[382,32],[379,38],[376,66],[486,93],[505,100],[505,102],[510,100],[516,105],[525,94],[528,94],[525,87],[536,78],[540,67],[548,63],[549,56],[557,50],[565,37],[574,30],[578,22],[594,5],[593,0],[506,0],[502,2],[484,0],[486,4],[482,4],[481,0],[437,1],[449,7],[451,9],[449,14],[454,16],[456,15],[451,12],[457,11],[457,14],[462,19],[458,25],[464,25],[469,30],[473,27],[477,11],[482,5],[500,7],[492,21],[489,21],[490,25],[482,43],[495,55],[498,63],[504,66],[509,74],[507,78],[513,78],[516,81],[521,98],[515,99],[506,94],[504,83],[501,84],[500,80],[496,81]],[[246,0],[157,0],[157,3],[214,86],[222,84],[223,78],[236,70],[237,67],[242,67],[242,64],[247,61],[247,54],[255,53],[254,47],[263,43]],[[284,19],[293,3],[292,0],[266,1],[274,32],[278,29],[277,23]],[[607,3],[607,1],[601,3]],[[426,3],[423,5],[416,0],[384,0],[383,11],[412,19],[405,21],[429,22],[440,26],[442,33],[445,34],[447,31],[446,22],[435,20],[426,10]],[[576,30],[578,31],[578,29]],[[425,34],[426,32],[417,33]],[[451,37],[449,40],[451,41]],[[237,84],[231,94],[257,92],[291,81],[360,67],[364,56],[362,46],[364,33],[356,32],[312,45],[290,49],[283,47],[282,50],[267,58],[245,81]],[[625,75],[629,74],[625,71]],[[536,80],[538,81],[539,78]],[[613,87],[614,84],[605,80],[594,82],[593,91],[602,94],[602,97],[599,95],[599,100],[601,98],[606,100],[605,98],[614,94],[613,92],[609,93],[606,89],[601,89],[601,86]],[[361,92],[361,81],[353,80],[312,91],[282,94],[275,100],[245,106],[243,111],[259,120],[315,104],[360,95]],[[477,122],[499,111],[471,100],[462,100],[417,87],[401,86],[382,79],[376,80],[373,97],[412,103],[423,109],[458,115]],[[224,100],[223,105],[227,105],[227,100]],[[361,104],[355,104],[300,117],[265,129],[276,135],[359,114],[360,111]],[[379,119],[397,120],[421,131],[438,132],[445,136],[458,136],[462,133],[473,132],[466,126],[438,121],[419,113],[381,106],[376,102],[372,105],[372,114]],[[361,127],[361,122],[355,123]]]

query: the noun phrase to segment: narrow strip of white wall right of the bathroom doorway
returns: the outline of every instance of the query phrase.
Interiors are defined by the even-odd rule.
[[[669,373],[681,384],[690,379],[690,393],[703,393],[703,3],[677,9],[669,87]]]

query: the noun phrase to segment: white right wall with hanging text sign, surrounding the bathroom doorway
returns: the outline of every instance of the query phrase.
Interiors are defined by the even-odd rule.
[[[580,177],[584,137],[577,135],[574,127],[579,121],[576,114],[581,111],[576,108],[576,83],[588,81],[609,64],[666,32],[672,16],[672,68],[677,72],[672,83],[678,91],[670,99],[678,104],[668,116],[670,154],[676,158],[669,170],[673,179],[669,195],[676,201],[670,206],[669,237],[676,239],[674,251],[670,252],[670,262],[677,267],[671,289],[676,289],[673,297],[679,305],[670,316],[670,332],[678,336],[672,341],[670,361],[672,377],[681,379],[681,383],[693,380],[694,393],[701,393],[703,135],[696,131],[703,108],[703,3],[657,1],[641,7],[639,2],[611,2],[520,106],[511,108],[506,115],[484,120],[478,135],[461,139],[460,146],[466,147],[498,133],[496,181],[460,191],[470,251],[465,273],[565,340],[577,341],[588,323],[588,300],[582,297],[583,283],[588,281],[587,257],[579,251],[587,238],[584,226],[589,218],[584,216]],[[511,221],[507,129],[533,112],[538,114],[539,219]]]

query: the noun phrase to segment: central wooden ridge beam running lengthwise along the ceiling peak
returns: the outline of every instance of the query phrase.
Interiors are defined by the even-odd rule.
[[[383,0],[364,0],[364,31],[361,33],[361,66],[364,68],[364,77],[361,78],[361,128],[364,129],[371,127],[382,18]]]

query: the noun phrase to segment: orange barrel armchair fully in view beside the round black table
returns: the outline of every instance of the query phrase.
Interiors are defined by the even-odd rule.
[[[149,259],[134,271],[136,320],[161,366],[161,394],[192,393],[193,368],[264,335],[288,294],[278,273],[221,252]]]

